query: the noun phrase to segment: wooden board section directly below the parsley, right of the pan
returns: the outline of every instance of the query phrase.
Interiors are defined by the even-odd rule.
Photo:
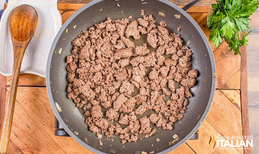
[[[229,52],[229,46],[223,42],[213,53],[218,89],[240,89],[240,56],[235,56],[233,51]]]

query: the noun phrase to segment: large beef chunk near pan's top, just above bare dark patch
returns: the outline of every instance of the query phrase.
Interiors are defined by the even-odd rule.
[[[136,20],[131,21],[126,27],[125,35],[127,38],[133,36],[135,40],[139,39],[138,22]]]

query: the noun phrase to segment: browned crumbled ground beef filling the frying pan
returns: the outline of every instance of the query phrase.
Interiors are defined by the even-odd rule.
[[[169,33],[162,20],[155,25],[144,10],[140,15],[131,22],[132,16],[108,18],[82,31],[66,58],[67,97],[84,110],[89,130],[107,137],[119,134],[122,144],[136,142],[138,134],[151,137],[155,127],[172,130],[183,118],[198,75],[180,35]],[[147,43],[135,46],[131,37],[138,40],[139,33],[147,35]],[[136,117],[150,110],[151,115]]]

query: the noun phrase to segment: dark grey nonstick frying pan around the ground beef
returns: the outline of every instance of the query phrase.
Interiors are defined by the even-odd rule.
[[[198,24],[177,5],[166,0],[145,0],[147,4],[142,4],[140,0],[95,0],[74,13],[59,30],[49,53],[47,63],[47,91],[53,111],[67,131],[79,144],[96,153],[140,153],[152,152],[167,153],[170,152],[185,141],[187,141],[200,127],[207,116],[213,101],[216,78],[214,76],[215,61],[212,50],[206,36],[198,26]],[[117,7],[120,4],[120,7]],[[99,11],[102,8],[102,11]],[[144,138],[143,135],[138,137],[137,142],[126,142],[125,147],[121,144],[118,137],[114,137],[114,141],[107,140],[103,135],[101,139],[103,145],[100,146],[99,139],[95,133],[88,130],[88,126],[84,123],[84,111],[79,109],[69,100],[66,95],[68,82],[66,80],[66,57],[70,55],[72,50],[71,42],[80,34],[82,30],[87,30],[97,23],[104,22],[107,17],[112,20],[127,18],[131,15],[131,20],[136,20],[141,9],[145,13],[152,14],[159,24],[160,20],[167,22],[167,28],[170,32],[176,32],[181,35],[184,43],[190,40],[190,50],[192,50],[192,68],[198,70],[197,82],[190,89],[193,97],[190,97],[184,118],[173,124],[173,130],[159,129],[150,138]],[[123,11],[123,13],[121,13]],[[163,12],[166,17],[158,16],[158,12]],[[174,15],[180,15],[181,19],[176,19]],[[130,21],[131,21],[130,20]],[[76,28],[73,28],[75,25]],[[177,26],[182,26],[181,31],[177,32]],[[66,29],[68,32],[66,33]],[[140,44],[143,42],[139,42]],[[136,43],[135,43],[136,46]],[[58,51],[62,48],[62,52]],[[61,108],[61,112],[57,109],[57,104]],[[78,134],[77,134],[78,133]],[[168,143],[173,141],[172,136],[179,135],[179,140],[172,145]],[[85,141],[87,138],[87,141]],[[142,138],[142,140],[139,140]],[[160,141],[156,141],[159,138]],[[154,146],[151,146],[151,145]]]

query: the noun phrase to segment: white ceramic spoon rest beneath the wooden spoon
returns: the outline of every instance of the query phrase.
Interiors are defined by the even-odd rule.
[[[22,73],[46,76],[46,65],[52,42],[62,26],[57,0],[9,0],[0,21],[0,73],[12,75],[14,52],[9,31],[12,10],[22,4],[33,6],[38,13],[38,26],[22,61]]]

